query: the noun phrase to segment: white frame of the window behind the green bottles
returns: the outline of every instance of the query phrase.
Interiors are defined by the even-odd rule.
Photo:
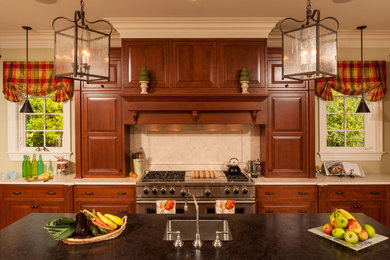
[[[63,147],[47,147],[49,151],[36,151],[36,148],[27,148],[25,142],[23,122],[24,115],[19,113],[23,103],[8,103],[8,157],[11,161],[23,161],[23,155],[42,155],[42,160],[56,160],[55,156],[63,156],[70,160],[71,151],[71,124],[70,101],[63,103]]]

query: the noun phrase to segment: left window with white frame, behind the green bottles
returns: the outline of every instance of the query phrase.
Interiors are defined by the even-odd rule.
[[[22,104],[8,102],[8,154],[22,160],[24,154],[70,159],[70,102],[54,102],[52,96],[31,97],[33,114],[19,113]]]

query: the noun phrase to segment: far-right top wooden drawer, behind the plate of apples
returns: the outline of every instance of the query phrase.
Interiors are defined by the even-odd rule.
[[[386,186],[328,186],[328,199],[386,199]]]

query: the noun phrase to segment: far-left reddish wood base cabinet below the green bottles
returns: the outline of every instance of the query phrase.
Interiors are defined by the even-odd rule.
[[[73,186],[2,185],[2,197],[3,227],[30,213],[73,212]]]

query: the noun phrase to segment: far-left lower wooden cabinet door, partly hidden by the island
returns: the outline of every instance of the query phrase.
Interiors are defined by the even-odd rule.
[[[38,206],[35,201],[5,201],[5,226],[33,213]]]

